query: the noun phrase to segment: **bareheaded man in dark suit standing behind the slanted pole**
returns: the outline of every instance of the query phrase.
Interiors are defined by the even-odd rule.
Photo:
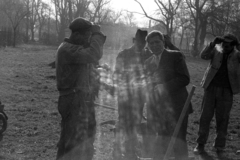
[[[186,86],[190,82],[184,55],[178,50],[165,49],[164,36],[152,31],[146,37],[149,52],[153,55],[145,61],[150,76],[148,85],[148,134],[155,137],[153,159],[162,160],[169,141],[188,97]],[[188,115],[185,115],[174,145],[178,160],[188,159],[186,142]]]

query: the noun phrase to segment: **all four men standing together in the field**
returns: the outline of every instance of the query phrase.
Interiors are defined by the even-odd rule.
[[[103,54],[106,36],[100,31],[99,26],[93,25],[84,18],[76,18],[71,22],[69,28],[72,31],[71,36],[66,38],[59,46],[56,57],[57,88],[60,93],[58,110],[62,117],[57,159],[91,160],[94,155],[93,143],[96,134],[94,100],[101,85],[98,67],[100,67],[99,60]],[[232,38],[230,37],[229,41]],[[225,39],[221,39],[223,48]],[[225,115],[220,115],[224,118],[218,116],[219,119],[217,119],[218,137],[215,147],[224,147],[229,107],[231,107],[229,105],[232,105],[230,101],[233,93],[238,92],[231,88],[233,83],[233,85],[238,84],[237,77],[234,77],[237,70],[229,71],[228,68],[226,69],[226,67],[232,65],[227,66],[228,61],[226,60],[223,63],[225,66],[222,67],[225,70],[222,71],[220,67],[222,62],[216,62],[217,60],[222,61],[222,57],[217,57],[217,54],[215,55],[212,51],[215,44],[218,43],[220,42],[215,42],[210,45],[209,49],[205,49],[202,52],[202,58],[212,59],[211,64],[214,63],[214,65],[210,65],[210,68],[216,69],[215,67],[218,67],[216,73],[211,73],[211,76],[208,76],[211,77],[210,80],[208,77],[206,79],[211,82],[213,77],[224,78],[221,83],[224,86],[218,86],[218,89],[222,87],[224,89],[222,89],[223,91],[217,89],[217,93],[223,93],[223,97],[225,97],[225,94],[228,95],[226,101],[229,103],[226,102],[223,105],[216,103],[217,100],[214,100],[214,102],[207,100],[211,99],[211,97],[207,98],[209,94],[213,96],[216,91],[211,90],[211,93],[209,93],[209,87],[206,87],[208,92],[205,90],[204,97],[206,98],[203,101],[203,112],[197,140],[198,146],[195,148],[195,152],[198,153],[204,151],[204,144],[207,139],[205,129],[209,128],[208,123],[210,123],[204,118],[206,114],[209,114],[204,108],[209,108],[209,105],[211,105],[212,112],[214,112],[214,109],[217,110],[218,105],[221,105],[221,109],[217,111],[218,113],[224,112]],[[237,39],[234,44],[231,43],[233,46],[237,44]],[[231,59],[233,59],[233,65],[235,66],[231,66],[231,68],[236,67],[240,62],[238,59],[240,53],[233,49],[234,47],[232,50],[230,48],[226,51],[223,50],[223,53],[227,52],[229,58],[230,55],[233,55]],[[218,73],[218,69],[220,73]],[[229,84],[228,79],[224,77],[225,74],[231,74],[229,79],[235,80]],[[146,154],[154,160],[162,160],[188,97],[186,86],[190,83],[190,75],[184,55],[171,43],[170,37],[163,35],[160,31],[154,30],[148,33],[138,29],[133,46],[118,54],[113,79],[113,87],[116,88],[118,96],[118,133],[125,135],[124,146],[118,150],[120,154],[113,154],[113,156],[116,156],[114,159],[138,159],[136,154],[137,127],[142,121],[143,108],[147,106],[146,135],[143,137],[144,148]],[[215,82],[218,81],[215,80]],[[212,84],[208,85],[211,86]],[[210,102],[211,104],[209,104]],[[226,109],[228,109],[227,113]],[[190,104],[176,137],[174,153],[178,160],[188,159],[186,135],[188,115],[192,112],[193,109]],[[208,119],[211,118],[212,115],[208,115]]]

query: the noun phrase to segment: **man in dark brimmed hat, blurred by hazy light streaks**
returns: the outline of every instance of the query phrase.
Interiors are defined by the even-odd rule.
[[[133,45],[121,51],[116,58],[114,83],[118,96],[118,126],[114,143],[114,159],[137,159],[137,126],[141,123],[144,107],[144,95],[140,83],[144,76],[143,59],[146,56],[143,49],[146,45],[147,31],[138,29],[133,38]],[[124,137],[121,144],[120,137]]]

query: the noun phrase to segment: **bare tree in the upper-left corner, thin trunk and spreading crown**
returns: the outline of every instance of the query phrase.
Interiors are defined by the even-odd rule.
[[[8,17],[13,30],[13,47],[16,46],[17,30],[29,12],[21,0],[0,0],[1,11]]]

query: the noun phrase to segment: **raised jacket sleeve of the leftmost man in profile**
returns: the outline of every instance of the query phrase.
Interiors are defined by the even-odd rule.
[[[103,45],[105,43],[106,36],[101,33],[94,33],[90,39],[90,45],[83,48],[79,45],[74,45],[68,52],[70,55],[69,62],[73,64],[86,64],[86,63],[98,63],[103,55]],[[72,51],[71,51],[72,50]]]

